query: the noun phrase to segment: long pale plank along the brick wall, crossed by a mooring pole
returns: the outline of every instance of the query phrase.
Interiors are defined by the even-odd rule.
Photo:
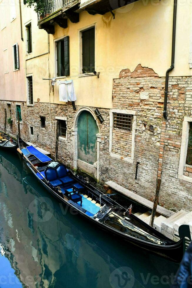
[[[150,209],[153,209],[153,202],[152,201],[147,200],[146,198],[137,195],[136,193],[134,193],[134,192],[132,192],[132,191],[130,191],[130,190],[118,185],[117,183],[115,183],[113,181],[105,182],[105,184],[108,185],[109,187],[113,188],[114,190],[122,193],[123,195],[126,195],[130,199],[133,199],[136,202],[141,203],[141,204],[143,204],[144,206],[146,206],[146,207],[148,207]],[[159,205],[157,205],[157,212],[160,213],[163,216],[166,216],[166,217],[170,217],[171,215],[174,214],[173,211],[170,211],[170,210],[168,210],[168,209],[166,209],[164,207],[161,207]]]

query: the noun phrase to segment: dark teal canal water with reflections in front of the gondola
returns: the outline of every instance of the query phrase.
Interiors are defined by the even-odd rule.
[[[161,288],[177,269],[96,230],[0,151],[0,288]]]

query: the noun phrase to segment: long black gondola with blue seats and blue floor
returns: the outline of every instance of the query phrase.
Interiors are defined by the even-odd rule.
[[[75,210],[84,219],[130,244],[180,262],[185,250],[185,237],[190,239],[187,225],[179,228],[180,240],[174,242],[149,226],[131,211],[103,194],[81,176],[53,161],[19,138],[18,152],[36,179],[59,201]],[[185,233],[186,234],[185,234]]]

